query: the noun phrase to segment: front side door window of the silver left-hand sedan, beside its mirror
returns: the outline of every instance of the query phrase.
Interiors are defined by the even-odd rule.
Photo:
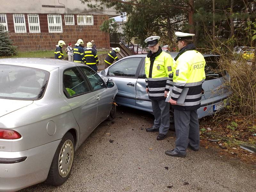
[[[84,72],[84,75],[90,81],[90,84],[92,85],[93,90],[105,88],[105,84],[103,83],[103,80],[95,71],[93,71],[89,67],[82,67],[81,69]]]

